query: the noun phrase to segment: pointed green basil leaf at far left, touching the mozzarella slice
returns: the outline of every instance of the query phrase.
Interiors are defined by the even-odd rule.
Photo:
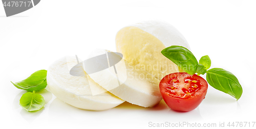
[[[30,92],[38,91],[46,88],[47,86],[46,75],[47,75],[46,70],[39,70],[33,73],[32,75],[30,75],[25,80],[15,82],[15,83],[13,83],[12,81],[11,82],[18,89],[27,90]]]

